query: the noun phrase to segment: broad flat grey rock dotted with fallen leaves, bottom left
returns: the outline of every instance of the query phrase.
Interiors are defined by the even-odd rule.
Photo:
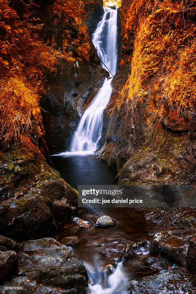
[[[43,238],[25,241],[19,248],[19,270],[9,284],[24,285],[25,291],[21,293],[49,294],[60,287],[61,293],[86,294],[86,269],[68,247],[52,238]]]

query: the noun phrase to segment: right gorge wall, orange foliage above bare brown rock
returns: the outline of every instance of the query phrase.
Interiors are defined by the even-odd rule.
[[[120,70],[98,158],[120,184],[195,183],[195,14],[179,5],[122,1],[119,9]]]

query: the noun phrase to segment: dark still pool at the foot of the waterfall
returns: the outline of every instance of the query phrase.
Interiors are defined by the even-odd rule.
[[[116,171],[96,156],[51,156],[51,160],[62,178],[73,188],[78,185],[115,185]]]

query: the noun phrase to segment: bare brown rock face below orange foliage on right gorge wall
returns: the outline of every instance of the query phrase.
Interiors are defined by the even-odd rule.
[[[170,109],[164,99],[157,102],[153,88],[157,76],[144,81],[143,96],[128,98],[127,81],[132,71],[133,50],[137,50],[137,30],[130,25],[125,31],[130,5],[124,1],[119,12],[123,35],[120,70],[113,78],[113,94],[104,111],[98,158],[117,169],[119,184],[194,184],[195,112],[190,110],[187,115],[182,111],[179,116],[177,109]],[[138,27],[137,19],[134,26]],[[162,68],[159,70],[161,76]]]

